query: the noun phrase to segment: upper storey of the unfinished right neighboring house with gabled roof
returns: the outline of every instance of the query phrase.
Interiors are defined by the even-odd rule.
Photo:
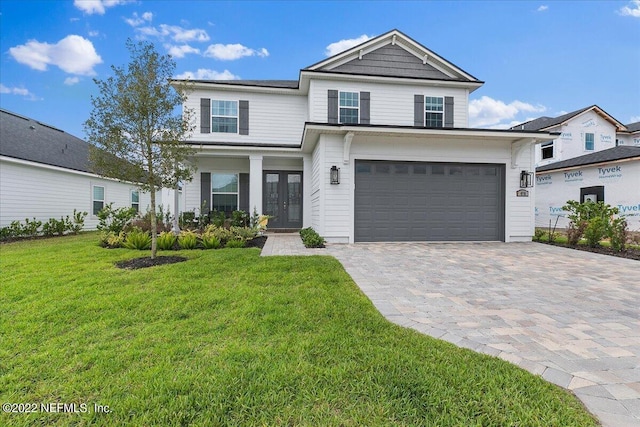
[[[627,128],[597,105],[558,117],[539,117],[511,129],[559,132],[553,141],[536,147],[536,166],[560,162],[616,146],[618,132]]]

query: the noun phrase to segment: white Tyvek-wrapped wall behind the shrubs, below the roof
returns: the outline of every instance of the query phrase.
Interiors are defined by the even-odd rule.
[[[619,167],[620,169],[617,169]],[[540,172],[536,177],[536,227],[565,228],[569,221],[562,206],[580,201],[580,189],[604,186],[604,202],[627,217],[629,229],[640,231],[640,161],[611,162],[557,172]]]

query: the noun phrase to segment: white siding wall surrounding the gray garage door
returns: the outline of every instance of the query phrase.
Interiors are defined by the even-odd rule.
[[[323,203],[318,210],[322,215],[318,232],[329,242],[353,242],[354,165],[357,159],[505,164],[505,240],[531,240],[534,193],[530,191],[529,197],[516,197],[516,191],[520,187],[520,171],[532,169],[532,149],[523,150],[519,166],[512,169],[511,145],[507,142],[390,137],[364,139],[356,136],[348,165],[342,162],[342,147],[342,137],[323,135],[313,155],[314,163],[320,163],[321,182],[325,184],[324,191],[321,191],[324,193],[321,194]],[[332,165],[340,168],[340,185],[329,184]]]

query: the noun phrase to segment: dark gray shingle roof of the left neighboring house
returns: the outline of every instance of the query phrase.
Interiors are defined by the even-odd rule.
[[[88,142],[3,109],[0,109],[0,155],[92,173]]]

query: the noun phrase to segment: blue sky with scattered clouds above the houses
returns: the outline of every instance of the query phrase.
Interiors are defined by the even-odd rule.
[[[0,107],[84,138],[92,79],[128,62],[127,38],[171,53],[177,77],[297,79],[394,28],[486,82],[471,126],[592,104],[640,121],[640,0],[1,0]]]

